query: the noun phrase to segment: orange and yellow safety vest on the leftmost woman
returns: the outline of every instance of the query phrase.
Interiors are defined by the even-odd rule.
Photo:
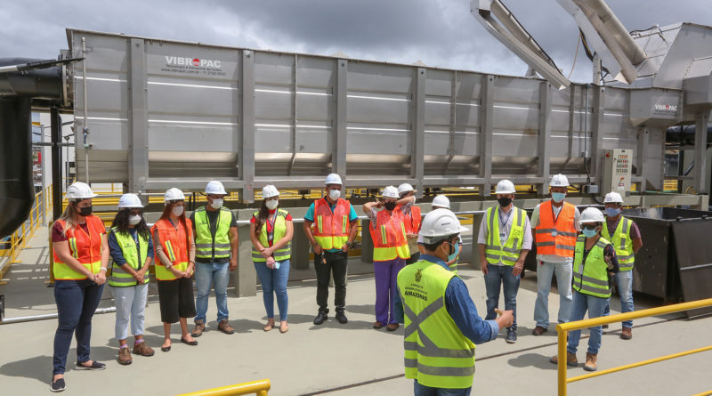
[[[61,224],[62,230],[66,226],[64,220],[58,220]],[[106,234],[106,227],[101,219],[97,216],[87,216],[86,217],[86,228],[89,230],[87,234],[86,231],[77,224],[77,226],[66,230],[66,235],[69,242],[69,253],[72,257],[76,258],[79,263],[85,266],[93,274],[99,273],[99,268],[101,267],[101,242]],[[80,272],[74,271],[69,264],[63,263],[60,257],[57,255],[57,250],[53,249],[54,254],[54,266],[53,274],[54,279],[87,279],[87,277]]]

